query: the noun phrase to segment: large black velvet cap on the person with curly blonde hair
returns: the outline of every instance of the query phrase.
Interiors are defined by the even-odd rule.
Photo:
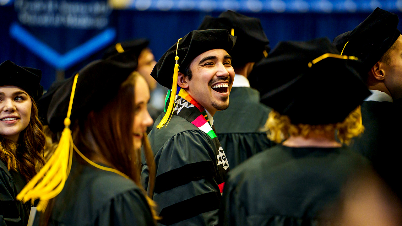
[[[254,70],[260,76],[261,103],[287,115],[293,124],[342,122],[371,92],[355,70],[357,60],[314,59],[338,50],[327,38],[280,42]]]

